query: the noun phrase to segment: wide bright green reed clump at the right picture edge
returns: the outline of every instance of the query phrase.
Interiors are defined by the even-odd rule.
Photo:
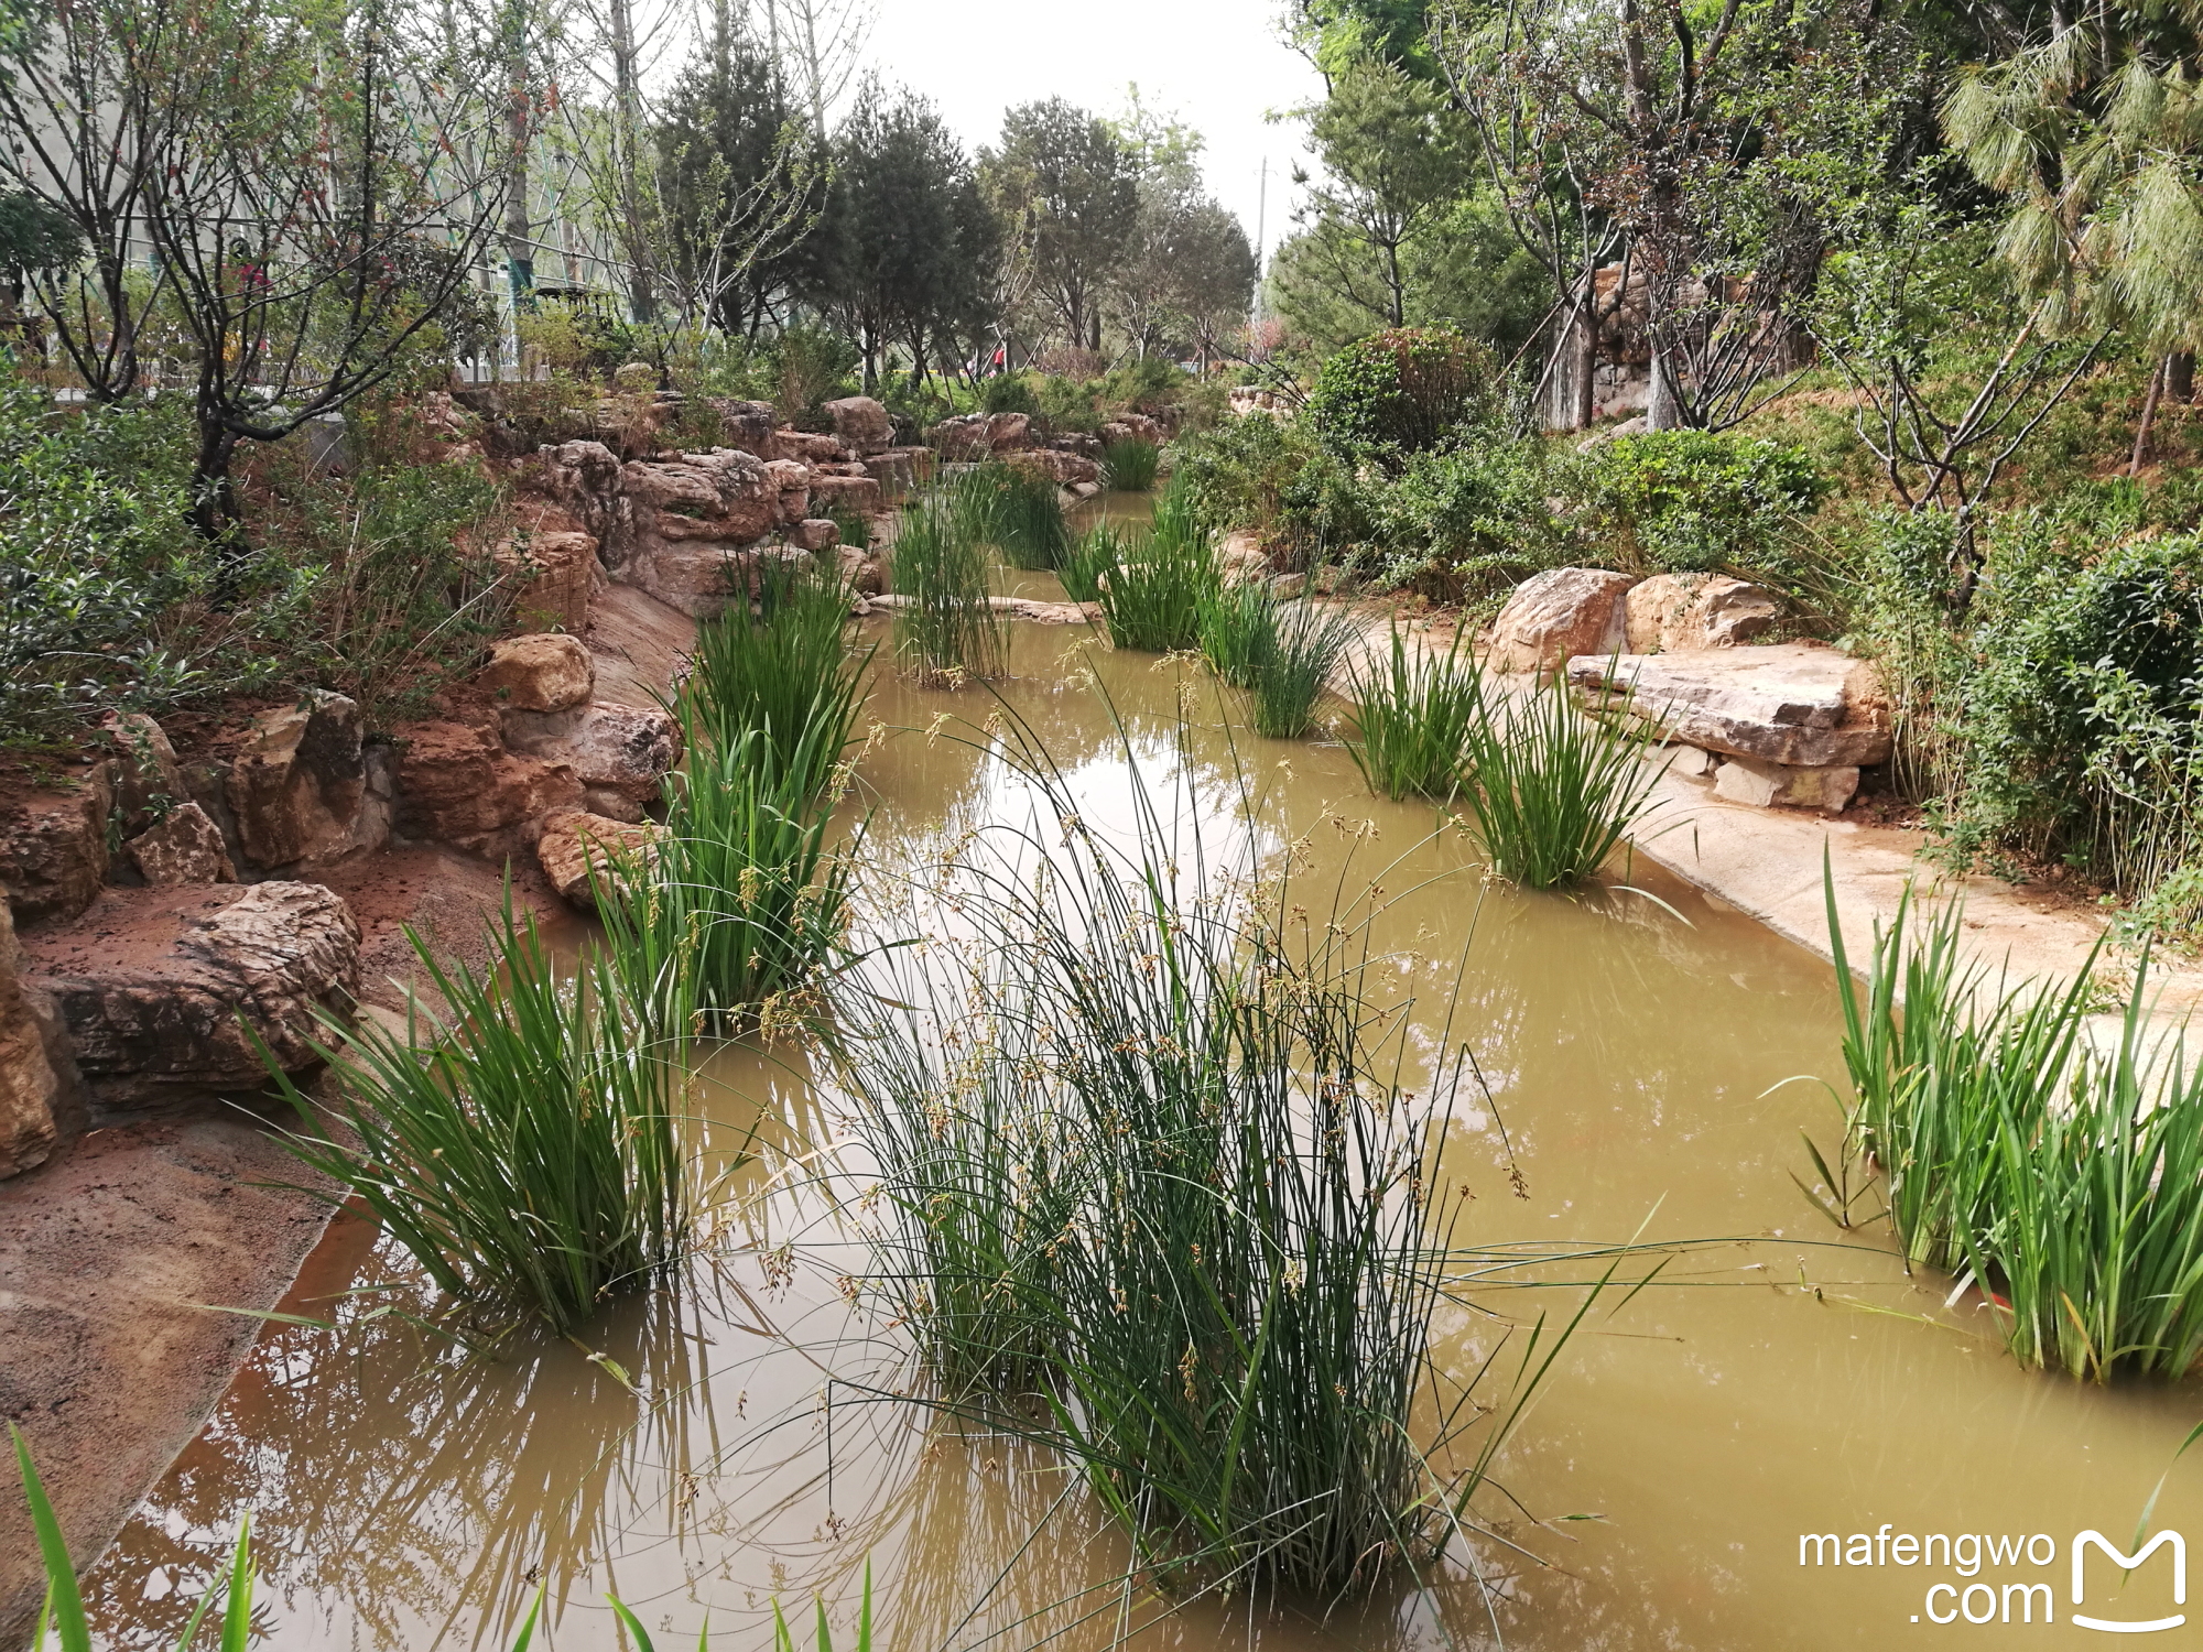
[[[1846,1156],[1881,1172],[1910,1264],[1978,1284],[2027,1366],[2106,1381],[2203,1359],[2203,1070],[2148,1029],[2148,958],[2113,1040],[2097,960],[2064,989],[1961,963],[1963,910],[1910,894],[1853,978],[1828,885],[1851,1070]]]

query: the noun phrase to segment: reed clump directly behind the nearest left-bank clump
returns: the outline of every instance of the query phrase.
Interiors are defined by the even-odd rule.
[[[806,1024],[848,930],[850,848],[828,846],[839,731],[815,720],[784,760],[762,729],[696,733],[665,833],[617,863],[639,894],[597,903],[606,938],[723,1033]]]

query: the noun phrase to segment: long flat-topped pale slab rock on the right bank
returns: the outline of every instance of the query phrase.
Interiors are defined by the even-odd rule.
[[[1732,758],[1857,769],[1890,756],[1890,698],[1866,661],[1813,643],[1569,661],[1586,694],[1637,685],[1668,738]],[[1743,784],[1743,780],[1734,782]]]

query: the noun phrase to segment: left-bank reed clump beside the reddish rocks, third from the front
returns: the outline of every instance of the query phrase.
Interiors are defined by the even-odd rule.
[[[736,601],[696,628],[681,692],[692,733],[727,745],[762,731],[771,760],[786,767],[797,740],[826,725],[817,745],[839,756],[864,709],[870,661],[848,648],[848,610],[837,577],[800,562],[760,564],[756,604]]]

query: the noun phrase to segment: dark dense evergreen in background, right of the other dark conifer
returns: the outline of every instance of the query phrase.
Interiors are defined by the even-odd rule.
[[[833,156],[831,306],[864,350],[868,390],[890,339],[925,377],[943,339],[989,322],[996,225],[972,161],[932,104],[877,81],[859,90]]]

